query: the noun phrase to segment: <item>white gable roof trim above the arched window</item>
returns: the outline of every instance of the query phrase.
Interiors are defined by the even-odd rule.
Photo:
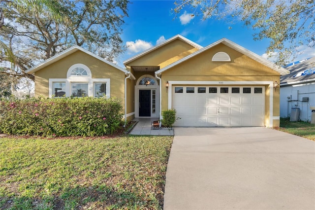
[[[88,50],[86,50],[86,49],[84,49],[84,48],[82,48],[82,47],[80,47],[78,45],[74,45],[74,46],[64,50],[63,52],[58,53],[57,55],[55,55],[55,56],[45,60],[44,62],[42,62],[40,64],[37,64],[36,66],[33,66],[32,68],[26,70],[25,72],[29,73],[29,74],[32,74],[32,73],[34,73],[34,72],[36,72],[38,70],[41,70],[41,69],[43,69],[43,68],[45,68],[45,67],[47,67],[47,66],[49,66],[49,65],[51,65],[51,64],[53,64],[53,63],[55,63],[57,61],[63,59],[64,57],[66,57],[66,56],[68,56],[68,55],[70,55],[70,54],[72,54],[72,53],[74,53],[74,52],[76,52],[78,50],[80,50],[80,51],[82,51],[82,52],[84,52],[84,53],[86,53],[86,54],[88,54],[88,55],[90,55],[90,56],[92,56],[92,57],[94,57],[94,58],[96,58],[96,59],[98,59],[98,60],[100,60],[100,61],[102,61],[102,62],[104,62],[104,63],[106,63],[106,64],[108,64],[108,65],[110,65],[112,67],[114,67],[114,68],[116,68],[116,69],[118,69],[118,70],[121,70],[121,71],[125,72],[126,74],[130,73],[129,71],[127,71],[127,70],[125,70],[125,69],[123,69],[123,68],[121,68],[121,67],[119,67],[119,66],[117,66],[117,65],[115,65],[115,64],[113,64],[113,63],[111,63],[111,62],[109,62],[109,61],[107,61],[107,60],[105,60],[103,58],[101,58],[101,57],[99,57],[98,55],[95,55],[94,53],[92,53],[92,52],[90,52],[90,51],[88,51]]]

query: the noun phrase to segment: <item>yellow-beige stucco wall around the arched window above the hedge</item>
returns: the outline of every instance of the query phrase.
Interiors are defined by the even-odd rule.
[[[92,72],[92,78],[110,78],[110,94],[122,100],[125,97],[125,73],[82,51],[76,51],[67,57],[35,72],[35,95],[49,96],[49,78],[66,78],[67,70],[74,64],[84,64]]]

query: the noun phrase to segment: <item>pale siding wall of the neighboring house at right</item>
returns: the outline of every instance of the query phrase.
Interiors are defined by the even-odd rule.
[[[288,96],[291,96],[292,100],[288,100]],[[309,97],[309,101],[302,102],[304,97]],[[312,110],[310,106],[315,106],[315,82],[281,87],[280,117],[289,117],[291,108],[300,108],[300,120],[311,121]]]

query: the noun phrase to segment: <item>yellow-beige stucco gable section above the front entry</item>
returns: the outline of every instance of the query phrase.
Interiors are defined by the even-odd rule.
[[[197,48],[191,46],[190,44],[176,39],[126,65],[130,67],[159,66],[161,69],[194,53],[197,50]]]

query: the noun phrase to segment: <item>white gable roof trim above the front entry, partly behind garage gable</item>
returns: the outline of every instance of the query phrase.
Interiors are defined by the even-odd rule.
[[[191,45],[191,46],[193,46],[193,47],[195,47],[197,49],[201,49],[202,48],[201,45],[199,45],[199,44],[197,44],[197,43],[195,43],[193,41],[190,41],[188,38],[185,38],[182,35],[175,35],[172,38],[169,38],[169,39],[167,39],[165,41],[162,41],[161,43],[159,43],[159,44],[157,44],[157,45],[155,45],[155,46],[153,46],[153,47],[143,51],[142,53],[139,53],[139,54],[137,54],[137,55],[127,59],[123,63],[126,66],[126,64],[130,63],[131,61],[134,61],[134,60],[136,60],[136,59],[138,59],[138,58],[140,58],[140,57],[142,57],[142,56],[144,56],[144,55],[146,55],[146,54],[148,54],[148,53],[150,53],[150,52],[152,52],[152,51],[154,51],[154,50],[156,50],[156,49],[158,49],[158,48],[160,48],[160,47],[162,47],[162,46],[164,46],[164,45],[166,45],[166,44],[168,44],[168,43],[170,43],[170,42],[172,42],[172,41],[174,41],[176,39],[182,40],[182,41],[188,43],[189,45]]]

